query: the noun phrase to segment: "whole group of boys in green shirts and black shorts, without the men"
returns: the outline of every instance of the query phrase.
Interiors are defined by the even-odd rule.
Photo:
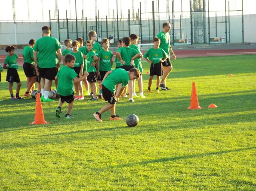
[[[110,120],[121,120],[115,113],[115,104],[120,97],[127,97],[126,89],[128,87],[129,101],[133,102],[133,97],[145,98],[143,95],[142,86],[142,53],[139,51],[138,44],[139,36],[131,34],[130,37],[123,37],[117,43],[118,49],[116,52],[116,69],[112,70],[113,53],[108,50],[109,40],[102,39],[102,46],[96,42],[97,34],[95,31],[90,31],[89,40],[86,41],[86,47],[83,46],[83,39],[77,38],[73,42],[71,39],[65,40],[66,49],[63,50],[63,66],[59,69],[55,80],[57,91],[60,95],[59,106],[56,108],[56,117],[60,117],[62,104],[64,101],[68,103],[68,110],[65,118],[73,118],[70,113],[74,105],[74,99],[83,100],[83,86],[86,89],[86,95],[92,95],[90,101],[104,98],[108,104],[102,107],[101,110],[93,114],[97,121],[102,122],[101,116],[106,110],[111,110]],[[162,72],[162,62],[167,59],[166,53],[159,48],[160,39],[154,38],[154,47],[150,48],[144,55],[144,58],[151,63],[150,78],[148,81],[148,89],[146,92],[151,92],[151,84],[154,75],[157,75],[156,92],[159,92],[160,76]],[[38,74],[35,75],[35,70],[29,68],[33,65],[33,46],[35,41],[31,39],[29,45],[23,50],[24,65],[23,69],[27,76],[27,90],[25,97],[30,96],[33,90],[35,81],[39,82]],[[17,72],[17,58],[14,46],[7,46],[6,52],[9,54],[4,62],[3,69],[7,69],[6,81],[9,82],[9,91],[12,99],[22,99],[19,95],[21,82]],[[7,66],[8,65],[8,66]],[[2,70],[0,68],[0,70]],[[32,71],[32,72],[28,72]],[[33,72],[34,71],[34,72]],[[135,93],[135,81],[138,79],[139,95]],[[74,85],[73,85],[74,81]],[[97,86],[99,83],[99,97],[96,96]],[[16,95],[12,93],[12,84],[17,83]],[[128,86],[127,86],[128,84]],[[40,86],[40,84],[38,84]],[[73,88],[74,87],[74,88]],[[91,93],[89,93],[89,87]],[[37,87],[39,90],[40,88]],[[75,93],[73,91],[75,89]],[[123,93],[124,91],[124,93]]]

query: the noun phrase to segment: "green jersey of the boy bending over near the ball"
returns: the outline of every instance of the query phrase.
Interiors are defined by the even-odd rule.
[[[115,69],[110,75],[105,78],[103,85],[111,92],[116,92],[116,85],[122,83],[122,87],[125,87],[129,82],[129,74],[124,69]]]

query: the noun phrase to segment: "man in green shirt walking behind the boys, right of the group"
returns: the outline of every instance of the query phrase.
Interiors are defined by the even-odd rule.
[[[170,62],[170,55],[172,55],[173,60],[176,60],[176,56],[173,52],[173,49],[170,45],[171,38],[170,38],[170,32],[171,30],[171,24],[168,22],[163,23],[163,31],[161,31],[157,37],[160,39],[160,48],[162,48],[165,53],[167,54],[167,59],[162,63],[163,64],[163,77],[160,82],[160,87],[162,90],[171,90],[168,87],[165,86],[166,84],[166,78],[170,74],[170,72],[173,69],[172,63]]]

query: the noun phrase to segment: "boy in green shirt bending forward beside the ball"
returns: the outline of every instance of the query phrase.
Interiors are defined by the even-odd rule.
[[[123,93],[124,87],[126,87],[129,81],[139,78],[138,69],[130,69],[126,71],[124,69],[115,69],[110,70],[104,76],[102,83],[99,84],[99,87],[102,87],[102,94],[105,101],[108,101],[108,104],[102,107],[99,111],[93,114],[95,119],[99,122],[102,122],[102,113],[110,109],[111,116],[110,120],[122,120],[119,116],[116,115],[116,101]],[[120,92],[116,95],[116,85],[122,84]]]

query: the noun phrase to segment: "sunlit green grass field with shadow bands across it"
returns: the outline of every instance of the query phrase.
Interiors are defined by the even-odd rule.
[[[96,122],[93,113],[107,104],[103,100],[75,101],[74,119],[64,119],[66,103],[60,119],[55,116],[57,101],[42,103],[51,123],[30,125],[35,100],[10,100],[5,70],[0,83],[0,190],[255,190],[255,60],[256,55],[240,55],[173,61],[167,80],[173,90],[117,103],[120,117],[139,116],[134,128],[109,121],[109,111],[102,123]],[[143,66],[149,71],[149,64]],[[19,74],[24,93],[22,67]],[[186,109],[193,81],[204,109]],[[207,108],[211,103],[218,108]]]

